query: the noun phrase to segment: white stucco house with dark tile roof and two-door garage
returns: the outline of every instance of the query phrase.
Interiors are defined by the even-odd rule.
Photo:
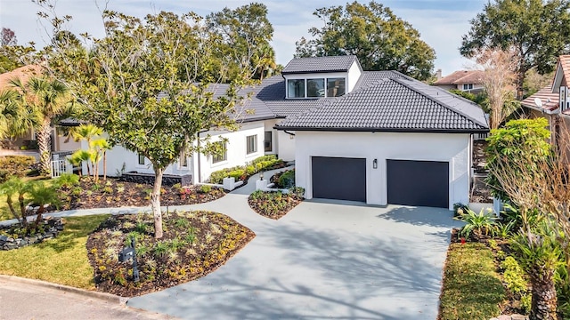
[[[355,56],[294,59],[282,75],[245,93],[226,154],[181,155],[165,174],[207,181],[224,167],[275,154],[295,161],[307,198],[452,209],[468,203],[472,135],[488,132],[483,110],[441,88],[395,71],[363,71]],[[108,174],[148,172],[124,148],[108,153]]]

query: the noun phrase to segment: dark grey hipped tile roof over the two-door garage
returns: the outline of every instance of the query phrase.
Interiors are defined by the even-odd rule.
[[[486,132],[483,110],[450,92],[384,78],[277,124],[283,130]]]

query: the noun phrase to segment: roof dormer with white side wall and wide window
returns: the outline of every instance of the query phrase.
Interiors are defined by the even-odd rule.
[[[362,75],[356,56],[290,60],[283,68],[287,99],[339,97],[351,92]]]

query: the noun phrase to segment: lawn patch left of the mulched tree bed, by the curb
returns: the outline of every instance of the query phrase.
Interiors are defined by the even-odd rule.
[[[0,251],[0,273],[94,290],[94,270],[87,258],[87,236],[109,214],[65,218],[57,238],[41,244]]]

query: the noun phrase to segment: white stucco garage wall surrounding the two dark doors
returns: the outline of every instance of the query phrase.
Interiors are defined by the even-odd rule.
[[[297,132],[296,140],[297,186],[306,189],[308,199],[313,197],[311,157],[339,156],[366,158],[367,204],[387,204],[387,159],[449,162],[449,209],[468,204],[470,134]],[[374,159],[378,169],[372,168]]]

